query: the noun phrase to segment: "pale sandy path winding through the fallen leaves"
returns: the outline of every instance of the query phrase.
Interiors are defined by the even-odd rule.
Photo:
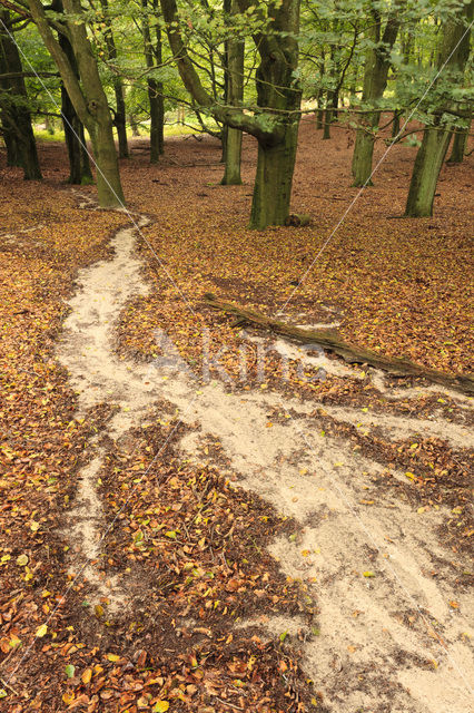
[[[188,458],[203,462],[199,450],[206,438],[219,439],[241,485],[303,525],[302,541],[277,539],[271,553],[286,575],[310,580],[319,634],[305,644],[305,666],[334,713],[472,710],[468,600],[454,590],[453,553],[435,535],[446,514],[421,516],[386,492],[373,505],[362,505],[382,467],[354,452],[348,442],[322,436],[317,417],[310,414],[315,403],[263,391],[227,393],[220,383],[198,384],[182,370],[120,361],[113,353],[113,326],[127,301],[147,292],[135,238],[135,228],[119,231],[112,240],[113,258],[82,270],[69,303],[57,355],[79,393],[80,410],[105,401],[119,407],[107,427],[108,434],[119,439],[149,419],[156,400],[168,400],[191,427],[180,443]],[[330,364],[339,372],[346,369],[332,360],[324,365]],[[275,406],[300,418],[267,428]],[[332,411],[342,421],[363,420],[350,409]],[[440,420],[369,414],[365,426],[377,420],[387,438],[399,438],[402,431],[444,433],[451,446],[468,445],[462,427]],[[105,530],[95,490],[102,458],[97,441],[89,443],[87,455],[70,512],[71,540],[79,548],[73,567],[86,565],[85,575],[98,594],[107,593],[118,606],[127,602],[127,593],[119,582],[103,582],[95,567]],[[436,578],[431,576],[434,568]],[[365,577],[367,572],[375,576]],[[450,606],[452,599],[458,608]],[[302,623],[278,618],[261,625],[280,634]]]

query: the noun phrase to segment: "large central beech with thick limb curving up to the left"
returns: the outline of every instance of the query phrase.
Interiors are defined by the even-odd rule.
[[[298,67],[299,0],[282,0],[264,7],[237,0],[239,12],[260,20],[253,40],[259,56],[256,72],[257,106],[225,105],[206,91],[180,28],[176,0],[161,0],[171,51],[186,89],[203,113],[258,141],[250,227],[283,225],[289,213],[299,125]]]

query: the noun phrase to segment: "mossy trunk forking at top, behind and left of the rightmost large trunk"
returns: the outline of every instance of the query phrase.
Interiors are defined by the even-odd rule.
[[[368,30],[371,47],[367,50],[364,70],[363,104],[374,107],[384,96],[387,86],[389,69],[389,56],[395,43],[399,28],[399,10],[402,1],[388,16],[385,30],[382,33],[382,17],[378,10],[379,3],[372,6],[372,25]],[[352,173],[354,186],[372,186],[372,160],[374,155],[375,134],[378,127],[381,111],[375,109],[363,114],[359,119],[354,146]]]

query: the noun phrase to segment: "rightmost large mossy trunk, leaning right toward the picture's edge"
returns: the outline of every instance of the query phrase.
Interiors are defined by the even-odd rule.
[[[464,6],[463,13],[448,18],[440,40],[436,66],[453,86],[462,84],[470,56],[470,40],[474,1]],[[437,179],[446,157],[451,139],[451,115],[440,108],[432,126],[426,127],[416,155],[406,201],[405,215],[426,217],[433,215],[433,202]]]

